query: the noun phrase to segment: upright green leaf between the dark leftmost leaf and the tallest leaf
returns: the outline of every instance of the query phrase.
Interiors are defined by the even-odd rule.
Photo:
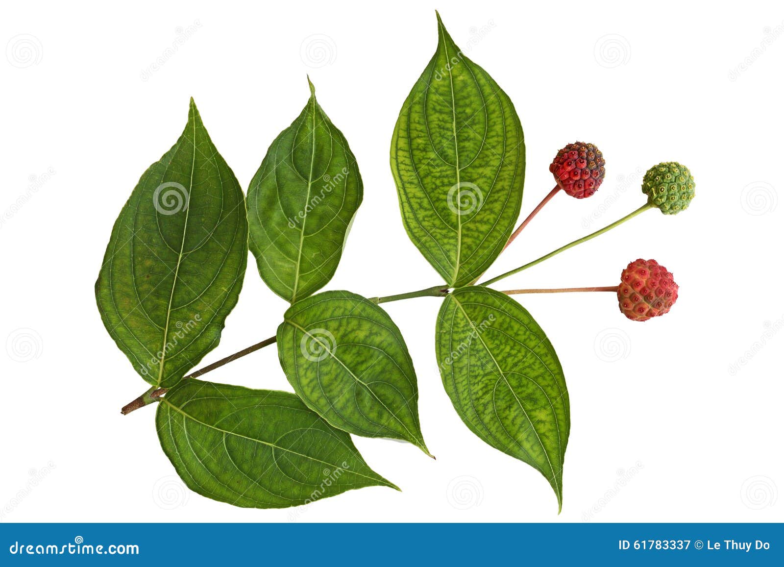
[[[335,274],[362,179],[346,138],[310,100],[270,146],[248,189],[250,249],[270,289],[294,303]]]

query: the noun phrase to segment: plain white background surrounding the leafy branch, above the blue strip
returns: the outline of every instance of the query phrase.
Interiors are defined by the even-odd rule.
[[[520,114],[523,215],[553,186],[547,166],[564,144],[591,141],[607,158],[601,191],[558,195],[489,275],[637,209],[651,165],[683,162],[697,183],[688,212],[645,213],[495,288],[615,285],[630,260],[655,258],[681,285],[677,304],[637,323],[611,293],[521,297],[560,355],[572,402],[560,516],[538,472],[474,437],[452,409],[434,354],[440,301],[430,297],[385,308],[416,365],[437,460],[355,438],[403,492],[361,489],[292,514],[187,491],[158,445],[154,408],[119,413],[147,384],[93,296],[114,219],[180,135],[190,96],[247,188],[307,101],[310,74],[365,182],[326,289],[376,296],[436,285],[401,224],[389,167],[397,113],[436,47],[435,7]],[[189,26],[191,37],[149,71]],[[784,519],[780,2],[15,2],[0,19],[6,42],[3,522]],[[204,363],[274,334],[285,307],[249,260]],[[274,347],[209,378],[290,390]]]

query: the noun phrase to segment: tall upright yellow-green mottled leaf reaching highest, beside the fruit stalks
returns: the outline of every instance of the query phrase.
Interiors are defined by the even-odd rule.
[[[450,286],[474,282],[520,213],[525,144],[509,96],[440,17],[438,49],[403,104],[390,161],[412,242]]]

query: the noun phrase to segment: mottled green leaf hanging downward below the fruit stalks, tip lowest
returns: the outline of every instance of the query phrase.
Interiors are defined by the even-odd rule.
[[[463,423],[541,472],[560,512],[569,395],[561,362],[531,314],[493,289],[457,289],[438,314],[436,353]]]

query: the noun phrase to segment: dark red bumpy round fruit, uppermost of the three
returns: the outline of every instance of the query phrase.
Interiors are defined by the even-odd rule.
[[[550,173],[567,194],[579,199],[590,197],[604,180],[604,158],[593,144],[575,142],[558,152]]]

